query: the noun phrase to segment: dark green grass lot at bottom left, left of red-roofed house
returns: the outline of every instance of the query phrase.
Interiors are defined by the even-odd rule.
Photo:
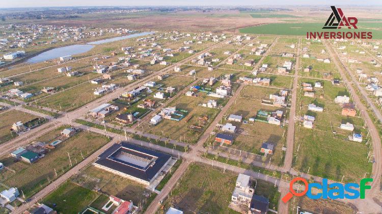
[[[73,182],[67,181],[57,190],[42,199],[42,203],[50,207],[56,204],[54,210],[58,213],[79,213],[91,204],[100,194]]]

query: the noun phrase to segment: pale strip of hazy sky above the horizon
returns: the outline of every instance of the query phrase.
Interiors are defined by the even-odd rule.
[[[286,6],[286,5],[382,5],[380,0],[334,0],[334,1],[307,1],[307,0],[0,0],[0,8],[20,7],[67,7],[67,6]]]

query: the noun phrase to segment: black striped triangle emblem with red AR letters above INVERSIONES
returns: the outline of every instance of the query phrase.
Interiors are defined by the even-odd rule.
[[[353,26],[354,29],[357,29],[356,24],[358,23],[358,19],[356,17],[346,18],[341,8],[336,8],[335,6],[331,6],[331,8],[333,12],[330,14],[322,29],[341,29],[341,27],[348,27],[351,29],[351,26]]]

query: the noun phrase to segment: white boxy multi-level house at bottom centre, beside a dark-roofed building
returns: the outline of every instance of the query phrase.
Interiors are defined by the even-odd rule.
[[[240,173],[237,176],[231,200],[236,203],[249,205],[254,192],[255,189],[252,188],[251,177]]]

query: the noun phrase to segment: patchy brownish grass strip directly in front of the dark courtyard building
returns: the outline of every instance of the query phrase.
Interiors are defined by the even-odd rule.
[[[72,182],[88,190],[97,190],[100,193],[117,196],[126,201],[131,200],[134,205],[143,208],[147,207],[156,195],[135,181],[94,166],[89,166],[73,176]]]

